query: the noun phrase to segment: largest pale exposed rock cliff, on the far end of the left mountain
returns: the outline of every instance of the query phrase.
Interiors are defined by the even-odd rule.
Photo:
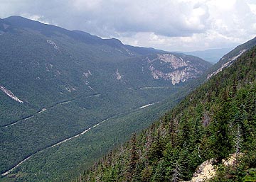
[[[147,59],[154,79],[170,80],[173,85],[193,79],[203,71],[196,64],[172,54],[157,55]]]

